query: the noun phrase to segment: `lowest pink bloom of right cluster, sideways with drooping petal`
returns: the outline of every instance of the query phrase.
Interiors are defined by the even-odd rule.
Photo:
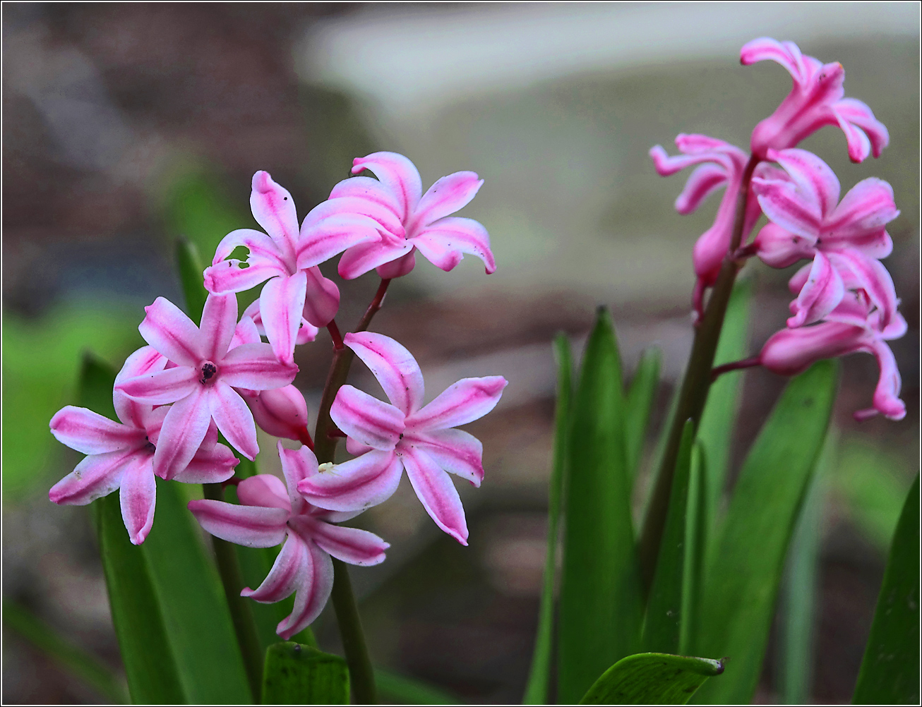
[[[849,291],[819,324],[782,329],[771,336],[762,347],[759,362],[781,375],[796,375],[820,359],[856,351],[873,354],[881,371],[873,407],[858,410],[855,418],[867,419],[880,413],[890,419],[903,419],[906,407],[899,397],[900,371],[886,342],[905,332],[906,322],[899,312],[892,316],[890,324],[883,326],[881,310],[862,291]]]

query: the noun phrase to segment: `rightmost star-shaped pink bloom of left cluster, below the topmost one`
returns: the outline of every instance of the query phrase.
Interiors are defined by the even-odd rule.
[[[453,428],[490,412],[506,379],[465,378],[423,406],[422,372],[406,348],[368,332],[348,334],[343,341],[372,370],[391,404],[342,386],[330,417],[346,432],[349,453],[361,456],[305,476],[298,490],[314,505],[333,511],[367,508],[390,498],[406,469],[435,524],[467,545],[464,508],[448,473],[479,486],[483,445]]]

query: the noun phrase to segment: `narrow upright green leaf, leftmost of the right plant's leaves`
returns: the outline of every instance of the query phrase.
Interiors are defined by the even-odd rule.
[[[567,433],[570,421],[570,396],[573,388],[573,360],[570,340],[564,334],[554,339],[557,358],[557,409],[554,420],[554,457],[550,467],[548,490],[548,550],[544,561],[544,585],[538,609],[538,631],[531,672],[525,689],[524,704],[546,704],[550,680],[550,663],[554,648],[554,587],[557,578],[557,536],[566,465]]]

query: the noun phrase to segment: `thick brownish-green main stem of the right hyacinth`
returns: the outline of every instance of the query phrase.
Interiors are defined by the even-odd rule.
[[[656,571],[659,546],[662,544],[663,529],[666,525],[669,495],[672,493],[672,477],[679,458],[682,429],[687,419],[691,419],[695,430],[698,429],[704,403],[707,401],[707,392],[711,386],[711,370],[714,367],[717,341],[724,325],[724,316],[727,313],[727,303],[733,291],[733,284],[741,267],[741,263],[733,257],[733,253],[737,252],[739,242],[742,241],[752,171],[758,163],[759,158],[752,155],[743,171],[737,200],[736,220],[733,224],[727,256],[717,275],[711,297],[704,309],[703,318],[695,330],[688,366],[685,369],[685,377],[682,379],[679,392],[676,415],[668,431],[663,459],[656,474],[656,485],[644,515],[644,526],[637,546],[641,577],[646,590],[649,590],[650,584],[653,583],[653,575]]]

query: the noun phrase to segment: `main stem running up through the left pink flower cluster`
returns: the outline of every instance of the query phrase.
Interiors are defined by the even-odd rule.
[[[372,317],[381,309],[384,294],[390,283],[390,279],[381,280],[378,291],[374,293],[374,298],[362,315],[355,331],[365,331],[371,324]],[[336,324],[333,325],[334,329],[330,329],[331,336],[334,330],[337,335],[339,331]],[[337,337],[334,336],[334,342],[336,341]],[[339,338],[339,346],[335,345],[333,349],[333,362],[330,364],[329,373],[326,374],[324,394],[321,396],[320,408],[317,411],[317,427],[313,430],[313,451],[320,464],[332,462],[336,456],[339,435],[337,435],[337,426],[330,418],[330,408],[333,407],[333,401],[336,400],[339,388],[346,383],[349,377],[349,367],[352,365],[352,359],[355,358],[352,349],[342,346],[341,342],[342,339]],[[336,558],[333,558],[332,597],[333,608],[337,612],[339,635],[343,641],[343,651],[346,654],[346,662],[349,664],[352,700],[358,704],[375,704],[378,697],[374,686],[372,659],[368,655],[365,635],[361,630],[359,607],[356,605],[355,595],[352,594],[349,571],[345,563]]]

